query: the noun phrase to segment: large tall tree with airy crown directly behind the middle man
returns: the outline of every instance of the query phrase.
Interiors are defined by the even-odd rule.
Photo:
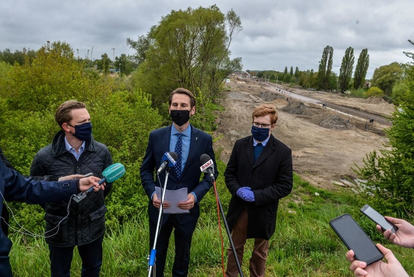
[[[214,98],[224,78],[242,68],[241,58],[229,58],[230,43],[241,30],[233,10],[225,15],[216,5],[173,10],[146,37],[128,40],[141,60],[132,83],[150,92],[158,104],[177,87],[194,93],[200,88]]]

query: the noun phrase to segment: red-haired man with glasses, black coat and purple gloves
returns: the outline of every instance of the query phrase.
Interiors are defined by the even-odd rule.
[[[272,135],[277,121],[274,105],[256,107],[252,119],[252,135],[236,141],[224,172],[232,195],[226,219],[240,264],[246,240],[255,239],[250,276],[263,277],[279,199],[292,191],[292,150]],[[231,248],[227,254],[226,277],[236,277]]]

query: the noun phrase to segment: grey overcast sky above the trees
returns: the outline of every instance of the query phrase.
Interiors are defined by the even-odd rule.
[[[246,3],[243,3],[246,2]],[[283,71],[285,66],[318,70],[323,49],[333,47],[333,71],[339,74],[346,48],[355,63],[368,49],[367,78],[391,62],[407,62],[414,52],[414,0],[1,0],[0,50],[38,50],[49,41],[66,41],[75,55],[113,59],[134,54],[126,38],[137,39],[171,10],[217,4],[233,9],[243,31],[230,45],[244,70]]]

